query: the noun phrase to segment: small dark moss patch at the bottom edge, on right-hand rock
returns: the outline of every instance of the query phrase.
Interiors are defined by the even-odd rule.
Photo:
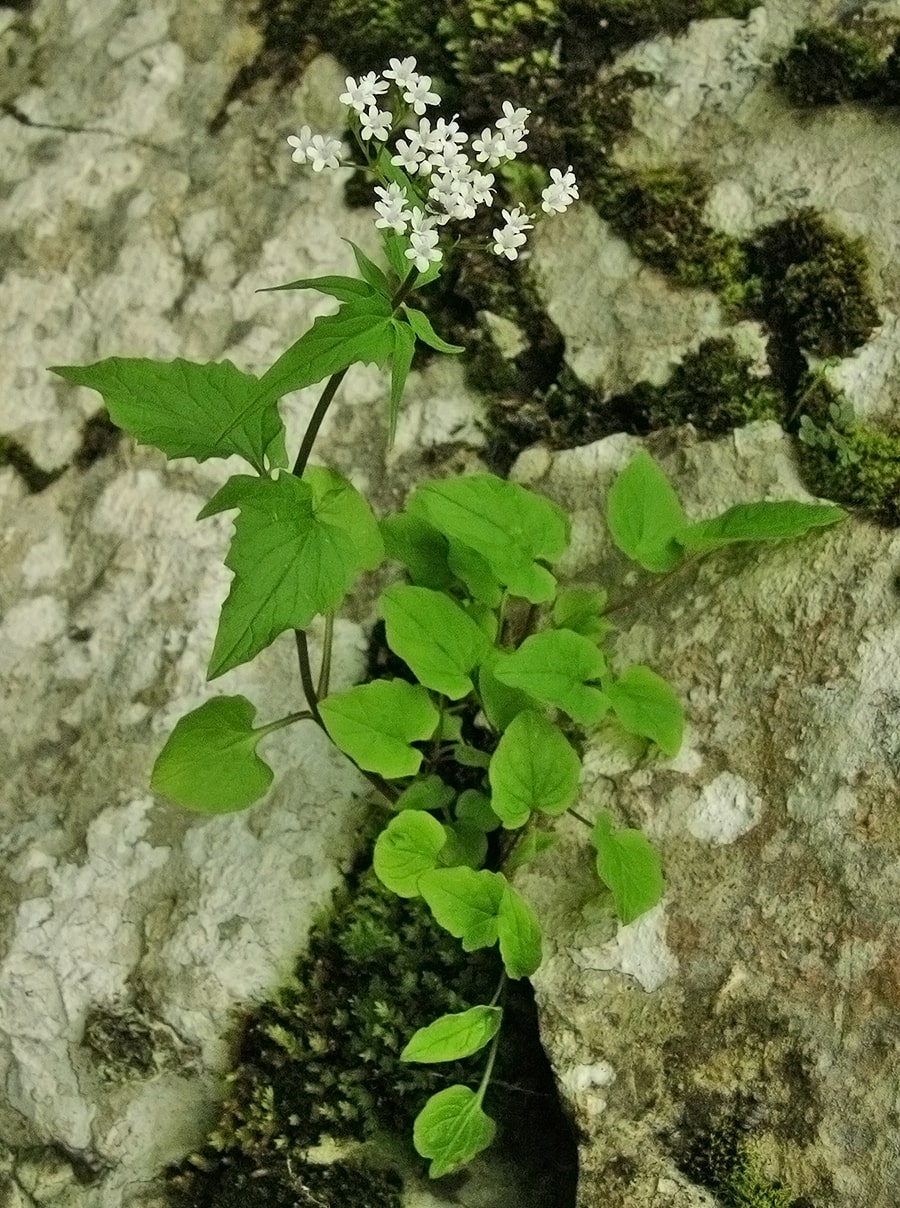
[[[753,1137],[733,1122],[696,1138],[684,1169],[715,1195],[720,1208],[791,1208],[795,1202],[765,1175]]]

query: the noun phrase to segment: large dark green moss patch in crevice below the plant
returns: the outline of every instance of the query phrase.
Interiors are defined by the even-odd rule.
[[[364,873],[314,928],[290,985],[249,1021],[222,1119],[175,1185],[199,1196],[207,1184],[272,1168],[286,1186],[288,1163],[325,1134],[408,1132],[436,1075],[402,1064],[403,1045],[435,1016],[489,997],[495,974],[494,953],[464,953],[423,902]],[[477,1068],[460,1062],[441,1075],[469,1082]]]

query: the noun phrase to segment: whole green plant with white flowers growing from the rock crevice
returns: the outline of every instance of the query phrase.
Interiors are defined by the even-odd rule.
[[[104,396],[112,420],[167,457],[238,454],[254,475],[234,475],[201,518],[234,510],[226,558],[233,571],[222,604],[209,679],[254,658],[292,631],[307,708],[254,726],[243,696],[215,696],[175,726],[151,785],[205,813],[243,809],[265,795],[273,773],[259,743],[285,726],[313,721],[378,790],[391,819],[374,850],[382,882],[422,896],[439,924],[466,951],[499,946],[504,972],[489,1003],[445,1016],[410,1039],[402,1059],[446,1062],[487,1049],[477,1087],[440,1090],[416,1121],[418,1151],[432,1177],[468,1162],[490,1143],[484,1111],[509,977],[528,977],[541,962],[538,918],[509,875],[552,842],[540,815],[571,813],[591,831],[599,878],[622,923],[662,893],[660,861],[634,830],[600,812],[575,809],[580,757],[563,719],[637,736],[663,755],[681,743],[681,708],[649,667],[612,670],[604,650],[614,608],[593,585],[561,587],[552,567],[569,541],[556,504],[494,475],[419,483],[396,515],[376,519],[335,470],[309,465],[331,401],[356,361],[390,366],[388,426],[393,437],[416,341],[447,353],[426,315],[408,303],[436,279],[442,232],[494,204],[493,168],[526,149],[527,109],[504,103],[494,128],[471,140],[449,121],[424,116],[440,103],[416,60],[391,59],[383,76],[348,77],[341,100],[373,175],[374,225],[387,268],[353,246],[360,278],[301,279],[275,289],[315,289],[338,300],[261,377],[230,361],[197,365],[110,358],[54,372]],[[414,124],[410,109],[417,118]],[[338,138],[303,127],[291,135],[295,161],[313,172],[342,164]],[[545,214],[577,198],[571,168],[551,170]],[[516,260],[536,215],[501,209],[488,251]],[[291,463],[279,400],[327,379]],[[726,545],[780,540],[835,523],[840,509],[776,503],[728,509],[690,522],[672,487],[638,454],[609,493],[606,518],[619,548],[650,574],[666,575]],[[381,596],[390,649],[412,681],[376,679],[331,691],[335,611],[360,574],[388,557],[405,581]],[[623,602],[620,602],[623,603]],[[324,615],[318,676],[307,631]],[[609,656],[609,657],[608,657]],[[562,722],[562,724],[561,724]],[[469,784],[459,785],[460,768]]]

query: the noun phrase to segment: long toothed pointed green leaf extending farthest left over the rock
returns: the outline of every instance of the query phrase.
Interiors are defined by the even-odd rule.
[[[117,428],[168,458],[205,461],[238,453],[263,474],[266,451],[284,435],[275,400],[251,412],[260,383],[231,361],[110,356],[94,365],[57,365],[51,373],[97,390]]]

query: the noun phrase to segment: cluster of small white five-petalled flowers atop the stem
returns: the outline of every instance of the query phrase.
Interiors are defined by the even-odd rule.
[[[410,249],[406,255],[419,272],[430,263],[441,260],[435,227],[449,222],[451,219],[471,219],[478,205],[492,205],[494,201],[494,176],[492,172],[482,172],[476,167],[464,150],[469,135],[459,128],[454,114],[449,122],[439,117],[431,127],[431,121],[424,117],[428,105],[439,105],[440,95],[431,91],[431,77],[416,70],[416,59],[391,59],[390,66],[378,77],[370,71],[360,80],[348,76],[344,81],[346,92],[339,100],[356,115],[360,145],[387,143],[394,126],[394,112],[379,109],[378,99],[393,81],[403,101],[412,106],[418,116],[417,126],[403,129],[403,138],[396,140],[395,152],[390,158],[408,176],[426,178],[428,191],[423,196],[417,190],[416,204],[406,190],[395,182],[376,187],[378,201],[374,203],[376,226],[391,230],[396,234],[408,234]],[[503,115],[494,128],[486,127],[481,135],[472,139],[471,150],[477,164],[487,169],[515,159],[526,150],[526,122],[530,116],[528,109],[516,109],[509,100],[503,103]],[[296,163],[310,163],[313,172],[323,168],[339,167],[341,141],[330,135],[310,134],[304,126],[300,135],[290,135],[288,143],[294,147],[291,158]],[[368,151],[366,151],[368,157]],[[382,179],[384,179],[383,174]],[[551,168],[551,181],[541,193],[541,209],[547,213],[562,214],[579,196],[575,173],[569,167],[565,173]],[[424,188],[424,181],[423,181]],[[494,227],[492,250],[498,256],[516,260],[519,248],[526,243],[526,231],[534,226],[533,214],[527,214],[521,207],[503,210],[504,225]]]

